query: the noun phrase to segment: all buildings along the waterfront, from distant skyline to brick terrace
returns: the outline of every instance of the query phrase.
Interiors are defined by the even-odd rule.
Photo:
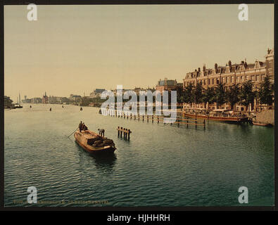
[[[135,87],[134,89],[122,89],[122,91],[135,91],[139,94],[139,91],[172,91],[178,88],[185,89],[189,84],[196,86],[196,84],[201,84],[203,89],[213,88],[217,84],[223,84],[225,90],[232,86],[233,84],[239,84],[239,87],[244,84],[244,82],[251,80],[253,83],[253,89],[258,90],[260,83],[263,82],[264,78],[270,77],[271,82],[274,82],[274,49],[268,49],[267,55],[265,56],[265,61],[255,60],[254,63],[247,63],[246,60],[241,61],[241,63],[232,63],[230,60],[225,66],[220,66],[215,63],[214,68],[198,68],[192,72],[187,72],[183,82],[177,82],[177,79],[163,79],[159,80],[156,88],[143,89],[141,87]],[[101,101],[101,93],[106,91],[106,89],[95,89],[90,93],[89,96],[80,96],[71,94],[69,98],[57,97],[57,96],[47,96],[46,92],[42,98],[31,98],[28,99],[25,96],[23,103],[52,103],[52,104],[74,104],[81,106],[100,106],[100,104],[105,101]],[[112,90],[114,94],[117,94],[117,89]],[[4,98],[5,105],[11,104],[11,100]],[[206,108],[209,110],[215,110],[217,104],[193,104],[189,105],[183,103],[184,108]],[[257,101],[251,104],[251,110],[258,110],[260,105]],[[221,109],[230,109],[230,105],[218,105]],[[246,111],[247,108],[244,105],[236,104],[234,110],[236,111]]]

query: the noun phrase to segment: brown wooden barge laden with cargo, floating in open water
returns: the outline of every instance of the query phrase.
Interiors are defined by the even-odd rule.
[[[75,141],[89,153],[113,153],[115,143],[111,139],[96,134],[94,131],[75,131]]]

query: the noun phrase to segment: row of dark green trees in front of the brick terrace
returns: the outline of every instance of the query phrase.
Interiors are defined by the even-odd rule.
[[[244,82],[242,86],[233,84],[226,90],[223,84],[203,89],[202,84],[199,83],[196,86],[189,84],[185,89],[182,87],[177,88],[177,102],[189,104],[216,103],[217,108],[219,105],[228,103],[233,109],[236,103],[248,107],[255,99],[260,104],[271,104],[274,101],[273,93],[274,85],[270,83],[269,77],[265,77],[258,90],[253,90],[251,80]]]

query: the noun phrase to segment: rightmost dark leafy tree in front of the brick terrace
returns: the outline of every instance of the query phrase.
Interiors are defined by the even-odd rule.
[[[258,98],[261,104],[273,103],[273,85],[270,84],[270,77],[265,77],[258,91]]]

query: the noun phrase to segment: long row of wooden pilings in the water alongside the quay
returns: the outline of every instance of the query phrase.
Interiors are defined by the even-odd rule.
[[[108,110],[109,112],[109,110]],[[161,120],[163,120],[163,124],[165,124],[165,120],[176,120],[175,122],[170,122],[170,125],[172,126],[172,124],[177,124],[177,127],[179,127],[179,125],[187,125],[187,127],[190,125],[195,125],[195,128],[197,128],[197,126],[203,126],[204,129],[206,129],[206,120],[203,120],[203,122],[198,122],[197,118],[171,118],[171,117],[161,117],[158,115],[132,115],[132,113],[130,114],[125,114],[123,112],[118,113],[117,110],[111,110],[110,113],[108,114],[111,117],[121,117],[127,120],[142,120],[144,122],[144,120],[146,120],[146,122],[149,122],[149,120],[151,120],[151,122],[156,122],[159,124],[161,122]]]

